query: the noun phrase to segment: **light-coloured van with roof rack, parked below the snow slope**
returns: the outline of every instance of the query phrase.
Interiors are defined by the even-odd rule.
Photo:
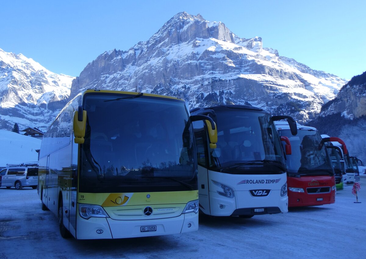
[[[0,171],[1,187],[8,189],[15,187],[20,190],[23,187],[37,188],[38,166],[8,166]]]

